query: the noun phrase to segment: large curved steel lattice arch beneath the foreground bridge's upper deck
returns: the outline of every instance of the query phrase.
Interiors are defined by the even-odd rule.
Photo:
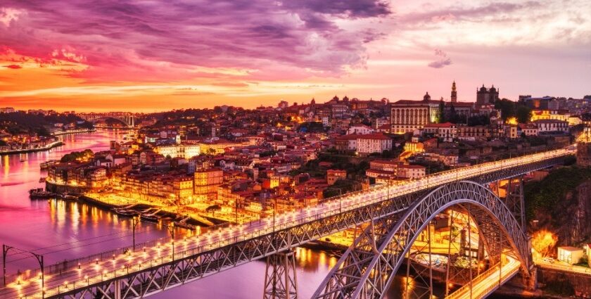
[[[434,189],[401,217],[372,221],[312,298],[383,298],[421,231],[436,215],[455,205],[476,210],[471,217],[485,230],[481,236],[489,255],[512,254],[528,274],[528,238],[511,210],[485,186],[459,181]]]

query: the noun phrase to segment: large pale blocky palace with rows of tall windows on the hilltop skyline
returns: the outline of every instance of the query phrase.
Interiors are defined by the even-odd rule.
[[[400,100],[390,108],[390,132],[404,134],[414,132],[424,126],[438,122],[440,101],[431,100],[429,93],[423,96],[423,101]]]

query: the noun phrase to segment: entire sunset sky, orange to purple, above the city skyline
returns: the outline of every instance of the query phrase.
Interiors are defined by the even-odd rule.
[[[591,94],[573,1],[0,1],[0,106],[132,110]]]

